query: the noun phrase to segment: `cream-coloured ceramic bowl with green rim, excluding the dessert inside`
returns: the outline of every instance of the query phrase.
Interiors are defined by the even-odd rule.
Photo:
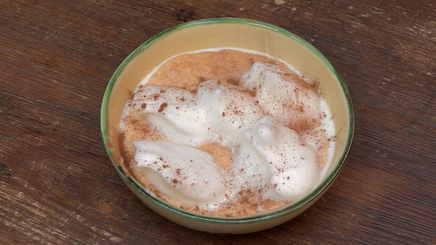
[[[176,54],[216,47],[237,47],[280,58],[302,72],[319,88],[336,127],[333,161],[324,179],[300,200],[278,210],[246,217],[214,217],[188,212],[156,198],[127,171],[120,154],[119,122],[129,91],[158,64]],[[326,57],[295,34],[259,21],[216,18],[192,21],[167,29],[131,53],[113,74],[101,107],[101,131],[110,161],[126,185],[161,216],[182,226],[215,233],[262,231],[301,214],[316,202],[340,173],[354,132],[354,112],[348,89]]]

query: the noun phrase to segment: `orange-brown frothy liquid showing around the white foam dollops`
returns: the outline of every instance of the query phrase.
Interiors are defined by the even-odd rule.
[[[235,50],[222,50],[218,52],[201,52],[196,54],[181,55],[171,59],[163,64],[159,70],[151,77],[148,85],[167,86],[186,88],[189,91],[196,91],[200,83],[209,80],[217,79],[237,85],[240,76],[243,72],[249,69],[253,62],[262,61],[268,62],[287,69],[286,65],[265,56],[245,53]],[[308,85],[309,86],[309,85]],[[139,86],[142,88],[142,86]],[[160,93],[164,93],[165,89],[161,89]],[[245,90],[245,93],[250,96],[255,96],[256,90]],[[132,95],[133,97],[133,95]],[[157,100],[159,94],[154,94],[153,99]],[[174,98],[174,100],[185,101],[185,98]],[[256,101],[258,104],[259,101]],[[147,104],[141,104],[141,108],[145,109]],[[158,110],[162,113],[168,106],[167,102],[160,105]],[[176,107],[178,109],[178,107]],[[302,107],[299,108],[303,110]],[[234,114],[241,113],[238,108],[234,108]],[[222,112],[221,116],[226,116]],[[227,116],[231,116],[230,114]],[[317,119],[318,120],[318,119]],[[209,211],[202,210],[199,206],[191,206],[186,203],[179,202],[161,192],[159,192],[153,183],[151,183],[144,175],[138,170],[136,162],[134,161],[135,149],[132,142],[135,140],[147,139],[155,141],[166,141],[165,137],[160,135],[157,131],[150,128],[150,126],[143,120],[137,111],[132,110],[125,119],[125,132],[120,133],[120,145],[122,146],[122,156],[125,159],[125,165],[128,167],[130,173],[137,179],[143,187],[155,193],[156,196],[165,202],[172,205],[182,207],[183,209],[210,216],[225,216],[225,217],[238,217],[238,216],[251,216],[260,213],[269,212],[277,208],[288,205],[288,202],[277,202],[274,200],[263,200],[259,193],[262,190],[245,190],[239,193],[240,199],[235,202],[225,203],[218,210]],[[326,139],[327,142],[329,139]],[[217,143],[203,144],[198,149],[209,153],[215,161],[224,170],[230,169],[233,163],[233,153],[230,148],[224,147]],[[321,146],[322,150],[327,149],[327,145]],[[322,154],[321,154],[322,155]],[[327,153],[318,157],[318,162],[323,164],[326,161]],[[160,160],[163,160],[160,158]],[[154,162],[157,163],[156,161]],[[162,168],[169,168],[168,164],[162,165]],[[176,169],[176,174],[181,175],[181,169]],[[245,171],[240,169],[240,172]],[[253,175],[253,178],[255,176]],[[185,177],[186,178],[186,177]],[[183,176],[178,179],[172,179],[171,183],[177,185],[181,182]],[[289,180],[290,177],[288,176]],[[195,183],[192,183],[193,185]],[[277,184],[274,185],[274,188]]]

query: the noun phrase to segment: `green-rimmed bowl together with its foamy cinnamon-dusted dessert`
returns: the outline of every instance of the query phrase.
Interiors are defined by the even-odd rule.
[[[318,50],[236,18],[142,44],[112,76],[101,113],[109,158],[141,201],[219,233],[306,210],[339,174],[354,130],[347,88]]]

